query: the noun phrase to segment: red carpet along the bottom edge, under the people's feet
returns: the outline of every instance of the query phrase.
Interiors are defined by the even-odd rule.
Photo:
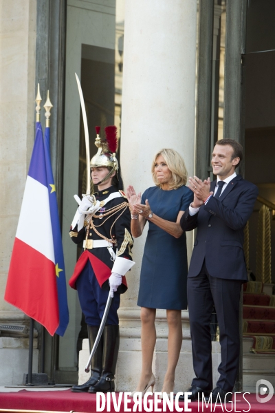
[[[124,394],[122,396],[122,403],[120,409],[114,409],[113,402],[111,401],[111,412],[124,412]],[[116,401],[118,402],[119,393],[116,394]],[[247,401],[245,401],[245,399]],[[267,412],[274,412],[275,411],[275,396],[267,403],[259,403],[256,401],[255,394],[245,394],[245,399],[243,399],[242,394],[236,394],[236,403],[227,403],[226,410],[228,412],[253,412],[253,413],[267,413]],[[148,407],[150,408],[149,403],[152,403],[153,400],[152,396],[148,398]],[[164,411],[162,409],[162,401],[157,403],[157,407],[159,408],[158,411]],[[131,400],[127,403],[128,411],[133,411],[134,402]],[[188,407],[192,408],[192,412],[226,412],[225,406],[222,407],[217,405],[214,409],[214,405],[212,405],[212,410],[210,406],[206,408],[206,406],[202,406],[201,403],[198,405],[197,402],[192,402],[188,404]],[[145,406],[146,408],[146,406]],[[4,412],[5,409],[17,409],[17,410],[47,410],[47,411],[60,411],[60,412],[96,412],[96,394],[87,394],[87,393],[72,393],[70,390],[62,390],[62,391],[48,391],[48,392],[29,392],[27,390],[21,390],[20,392],[10,392],[10,393],[0,393],[0,409],[1,412]],[[169,410],[168,405],[166,406],[166,412],[176,412],[182,411],[184,412],[184,403],[179,402],[179,409],[176,410],[175,405],[173,410]],[[98,410],[99,411],[99,410]],[[107,412],[107,407],[105,407],[103,412]],[[146,412],[144,410],[144,406],[142,409],[139,410],[137,406],[137,412]],[[153,406],[150,410],[151,412],[156,412],[157,408]],[[186,410],[187,411],[187,410]]]

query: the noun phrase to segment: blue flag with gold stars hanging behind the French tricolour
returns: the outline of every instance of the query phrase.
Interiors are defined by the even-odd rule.
[[[56,276],[57,292],[58,292],[58,308],[59,308],[59,326],[56,330],[56,334],[63,336],[67,325],[69,323],[69,309],[67,304],[67,287],[66,287],[66,276],[65,276],[65,263],[63,255],[63,245],[61,238],[61,226],[58,216],[58,205],[56,199],[56,191],[52,191],[50,185],[54,185],[54,176],[52,173],[52,163],[50,157],[50,127],[45,128],[44,135],[44,145],[45,145],[45,159],[46,159],[46,169],[47,169],[47,188],[49,191],[50,199],[50,213],[52,221],[52,235],[54,239],[54,256],[55,264],[58,265],[63,271],[58,273]]]

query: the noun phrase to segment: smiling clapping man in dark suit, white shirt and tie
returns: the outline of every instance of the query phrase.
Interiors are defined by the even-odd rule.
[[[197,236],[188,273],[188,309],[196,374],[190,399],[212,393],[230,401],[239,366],[239,300],[241,284],[248,281],[243,255],[243,229],[253,211],[257,187],[236,175],[243,148],[232,139],[219,140],[212,153],[217,180],[189,178],[194,201],[181,218],[181,228]],[[216,308],[220,331],[221,363],[217,387],[212,389],[210,318]]]

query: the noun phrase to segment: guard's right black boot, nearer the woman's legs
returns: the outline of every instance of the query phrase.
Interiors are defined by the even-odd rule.
[[[119,326],[104,327],[103,363],[102,374],[95,385],[91,385],[88,392],[114,392],[115,391],[115,368],[118,361],[118,348],[120,347]]]

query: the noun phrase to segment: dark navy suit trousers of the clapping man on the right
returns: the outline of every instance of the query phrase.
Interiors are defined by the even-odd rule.
[[[218,257],[217,257],[218,259]],[[232,392],[239,366],[239,300],[241,281],[211,277],[203,262],[197,277],[188,278],[188,310],[192,339],[193,367],[196,378],[192,385],[211,390],[212,343],[210,320],[216,308],[220,332],[221,363],[217,387]]]

